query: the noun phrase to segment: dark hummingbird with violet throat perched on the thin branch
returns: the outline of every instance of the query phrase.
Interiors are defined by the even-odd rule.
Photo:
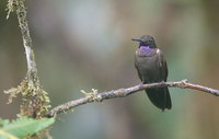
[[[152,36],[143,35],[140,39],[131,39],[139,42],[139,47],[135,55],[135,67],[141,82],[155,83],[165,82],[168,78],[168,66],[163,53],[157,47]],[[171,109],[171,96],[168,86],[146,89],[149,100],[158,108],[164,111]]]

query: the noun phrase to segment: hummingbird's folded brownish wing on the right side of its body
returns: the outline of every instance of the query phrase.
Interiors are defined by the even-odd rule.
[[[164,81],[166,81],[166,78],[168,78],[168,65],[166,65],[166,61],[165,61],[165,58],[163,56],[163,53],[158,49],[157,50],[157,54],[158,54],[158,57],[159,57],[159,69],[161,71],[161,74],[162,74],[162,79],[164,79]]]

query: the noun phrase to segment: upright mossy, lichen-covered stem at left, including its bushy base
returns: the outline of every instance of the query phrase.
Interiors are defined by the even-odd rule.
[[[7,19],[13,11],[16,13],[19,27],[22,33],[23,46],[26,54],[27,73],[20,85],[4,91],[4,93],[9,94],[9,103],[18,94],[22,94],[20,115],[41,119],[48,112],[50,105],[49,97],[39,83],[24,0],[9,0]]]

